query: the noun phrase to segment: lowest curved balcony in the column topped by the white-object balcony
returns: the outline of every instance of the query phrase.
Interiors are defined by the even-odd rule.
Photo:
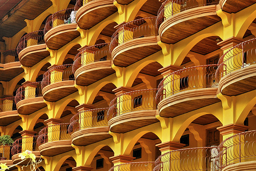
[[[60,123],[44,127],[38,133],[37,145],[43,156],[55,156],[74,149],[71,146],[69,123]]]

